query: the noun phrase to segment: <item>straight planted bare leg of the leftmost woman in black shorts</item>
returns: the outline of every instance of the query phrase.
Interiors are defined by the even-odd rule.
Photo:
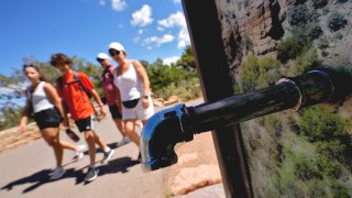
[[[58,138],[58,128],[46,128],[42,130],[42,135],[45,142],[53,147],[55,158],[56,158],[56,166],[59,167],[63,165],[63,155],[64,148],[59,142]]]

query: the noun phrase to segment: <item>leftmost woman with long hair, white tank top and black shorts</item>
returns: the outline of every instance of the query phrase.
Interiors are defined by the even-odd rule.
[[[63,168],[63,150],[68,148],[76,152],[76,158],[84,156],[85,145],[73,145],[65,141],[59,141],[58,125],[64,114],[61,98],[56,89],[48,82],[45,82],[38,67],[34,65],[24,65],[23,72],[31,81],[26,90],[26,105],[21,117],[19,131],[24,132],[28,117],[33,112],[34,120],[41,130],[45,142],[53,147],[56,158],[56,168],[51,175],[51,179],[58,179],[65,174]]]

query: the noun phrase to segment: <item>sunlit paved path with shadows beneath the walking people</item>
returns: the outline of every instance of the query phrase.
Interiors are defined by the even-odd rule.
[[[121,140],[110,117],[97,123],[96,131],[112,148],[116,148],[117,141]],[[70,141],[65,133],[62,133],[61,138]],[[78,143],[85,144],[82,136]],[[139,148],[133,143],[116,148],[109,164],[97,163],[100,168],[99,176],[89,184],[84,182],[89,164],[88,155],[79,162],[72,161],[72,151],[66,150],[64,155],[67,173],[63,178],[50,182],[48,175],[55,166],[55,160],[52,148],[43,139],[0,153],[0,197],[164,198],[169,195],[167,174],[173,166],[142,173],[136,162]],[[102,153],[98,153],[97,161],[101,158]],[[219,189],[222,190],[221,187]]]

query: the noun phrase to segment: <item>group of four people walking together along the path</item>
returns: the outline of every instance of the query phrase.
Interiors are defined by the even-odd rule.
[[[118,146],[130,141],[139,146],[140,136],[135,127],[138,124],[144,125],[147,119],[154,114],[150,79],[139,61],[127,58],[127,52],[120,43],[111,43],[108,52],[117,62],[117,67],[112,66],[110,57],[105,53],[99,53],[97,61],[103,67],[101,82],[106,103],[122,134]],[[73,62],[67,55],[53,54],[50,63],[62,73],[62,76],[56,79],[56,89],[45,80],[37,66],[23,66],[23,72],[31,85],[26,89],[28,100],[19,129],[21,132],[25,131],[28,118],[33,113],[43,139],[54,150],[56,168],[53,170],[51,179],[58,179],[66,172],[63,168],[64,148],[75,152],[74,160],[80,160],[84,152],[87,151],[87,146],[84,144],[74,145],[59,140],[59,124],[63,123],[64,127],[69,128],[69,113],[87,142],[90,164],[85,182],[92,182],[99,173],[95,166],[96,144],[105,153],[101,163],[107,163],[113,156],[114,150],[109,147],[95,131],[96,109],[90,97],[98,103],[99,113],[102,117],[106,117],[107,112],[87,74],[73,70]]]

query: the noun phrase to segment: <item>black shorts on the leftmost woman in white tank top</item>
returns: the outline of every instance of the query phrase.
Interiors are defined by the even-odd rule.
[[[51,108],[34,113],[34,120],[40,130],[43,130],[45,128],[58,128],[63,118],[56,108]]]

